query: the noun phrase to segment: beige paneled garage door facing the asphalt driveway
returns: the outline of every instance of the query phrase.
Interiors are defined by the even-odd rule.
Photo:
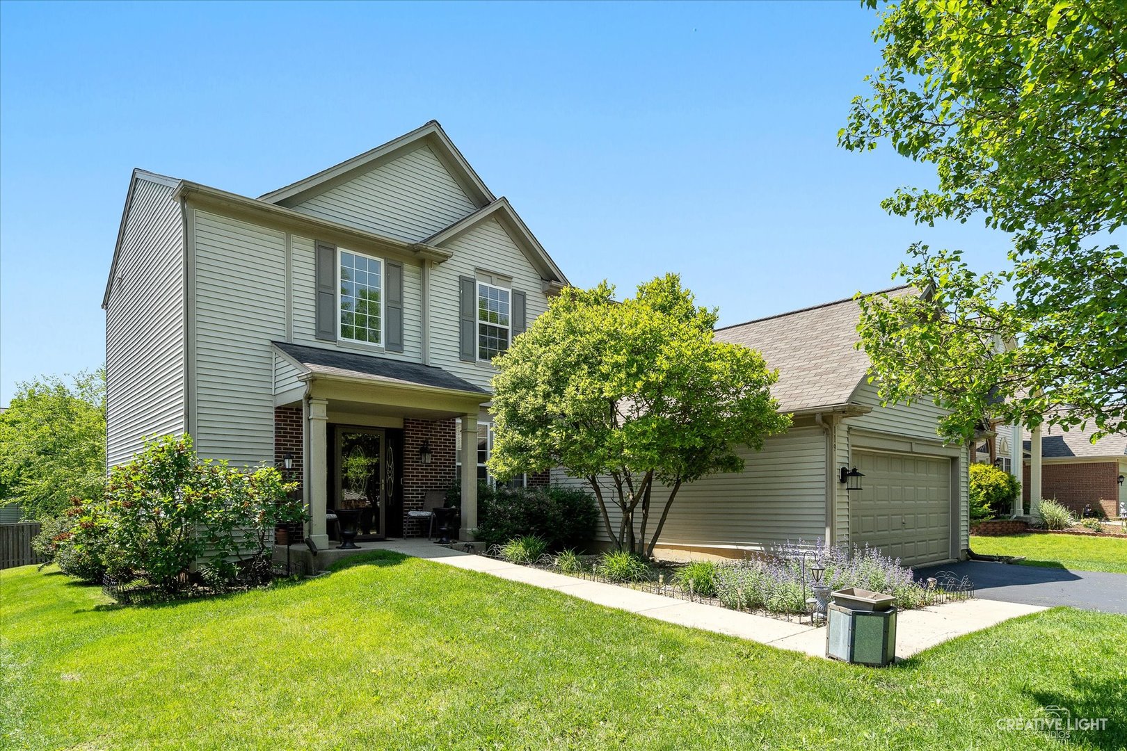
[[[906,565],[951,557],[951,461],[854,452],[864,473],[850,493],[850,537]]]

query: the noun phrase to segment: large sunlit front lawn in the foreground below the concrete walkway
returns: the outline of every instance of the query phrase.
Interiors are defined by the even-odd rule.
[[[356,561],[144,608],[0,572],[0,748],[1061,749],[996,728],[1045,705],[1108,717],[1071,748],[1127,744],[1124,616],[1055,609],[869,669]]]

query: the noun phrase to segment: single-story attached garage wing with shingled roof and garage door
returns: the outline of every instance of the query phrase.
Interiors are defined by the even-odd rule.
[[[880,405],[869,359],[854,347],[859,316],[850,298],[717,330],[779,369],[772,393],[793,427],[762,452],[745,449],[743,472],[683,486],[659,549],[738,557],[822,538],[869,544],[911,565],[961,557],[968,447],[938,437],[942,412],[930,400]],[[849,491],[842,470],[853,467],[864,477]]]

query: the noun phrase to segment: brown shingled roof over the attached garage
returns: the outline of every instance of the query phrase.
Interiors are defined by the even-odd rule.
[[[908,286],[870,295],[911,294]],[[867,295],[869,296],[869,295]],[[854,345],[861,309],[853,297],[804,307],[716,330],[718,341],[744,345],[779,369],[771,394],[782,412],[813,412],[853,403],[869,370],[869,356]]]

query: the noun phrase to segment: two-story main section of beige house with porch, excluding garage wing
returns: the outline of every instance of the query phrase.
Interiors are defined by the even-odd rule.
[[[290,464],[321,546],[334,508],[418,534],[406,512],[460,464],[473,528],[489,359],[565,285],[435,122],[259,198],[135,170],[103,301],[108,462],[187,431]]]

